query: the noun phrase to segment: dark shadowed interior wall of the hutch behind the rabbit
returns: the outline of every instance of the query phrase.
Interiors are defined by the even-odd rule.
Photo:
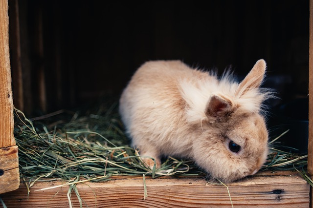
[[[241,77],[263,58],[280,102],[308,94],[309,0],[9,0],[9,10],[14,104],[27,115],[119,95],[156,59]]]

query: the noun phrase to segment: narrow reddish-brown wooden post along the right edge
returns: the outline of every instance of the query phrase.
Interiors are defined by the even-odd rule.
[[[309,145],[308,171],[313,176],[313,0],[310,0],[310,40],[309,40]],[[311,187],[310,207],[313,207],[313,190]]]

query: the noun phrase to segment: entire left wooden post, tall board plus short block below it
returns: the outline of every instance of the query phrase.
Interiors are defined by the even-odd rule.
[[[0,0],[0,193],[20,185],[18,147],[13,135],[8,0]]]

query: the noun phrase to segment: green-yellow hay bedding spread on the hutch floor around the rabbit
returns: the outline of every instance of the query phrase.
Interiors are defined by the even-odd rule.
[[[100,105],[96,111],[88,110],[84,116],[67,112],[66,115],[71,116],[69,122],[59,120],[48,125],[38,121],[39,118],[27,119],[16,109],[14,135],[19,146],[22,179],[31,187],[43,179],[66,180],[67,185],[74,185],[83,181],[107,181],[113,176],[205,176],[192,161],[172,157],[166,159],[160,169],[146,167],[138,151],[128,145],[116,106]],[[295,170],[307,166],[307,155],[277,149],[278,139],[285,133],[272,140],[268,161],[261,171]]]

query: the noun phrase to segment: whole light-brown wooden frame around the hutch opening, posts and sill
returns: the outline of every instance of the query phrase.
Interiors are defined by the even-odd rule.
[[[0,195],[8,207],[68,207],[68,187],[43,190],[62,182],[38,182],[29,196],[19,187],[18,147],[13,136],[13,101],[8,48],[8,0],[0,0]],[[313,0],[310,0],[309,94],[313,93]],[[309,97],[308,171],[313,175],[313,96]],[[239,182],[208,184],[203,178],[114,179],[77,185],[86,205],[97,207],[312,207],[310,186],[296,173],[264,172]],[[12,191],[15,190],[15,191]],[[11,192],[9,192],[11,191]],[[5,193],[7,192],[7,193]],[[72,194],[73,195],[73,194]],[[311,197],[310,197],[311,196]],[[230,200],[231,199],[231,200]],[[79,200],[72,197],[73,205]]]

